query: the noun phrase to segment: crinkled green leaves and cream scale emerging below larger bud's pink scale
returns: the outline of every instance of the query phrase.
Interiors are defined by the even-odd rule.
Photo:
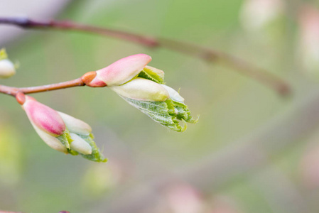
[[[109,88],[159,124],[174,131],[185,131],[187,126],[180,126],[178,120],[184,124],[195,124],[197,120],[190,115],[184,98],[163,84],[163,78],[162,70],[146,66],[133,80]]]

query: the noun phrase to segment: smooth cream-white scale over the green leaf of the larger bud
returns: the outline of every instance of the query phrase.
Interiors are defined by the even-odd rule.
[[[167,90],[161,84],[141,77],[136,77],[121,86],[110,87],[110,89],[122,97],[141,101],[164,102],[169,98]]]

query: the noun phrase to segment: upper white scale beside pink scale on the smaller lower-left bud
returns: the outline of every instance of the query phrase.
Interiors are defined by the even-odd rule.
[[[71,133],[77,133],[80,135],[88,136],[92,132],[92,128],[89,124],[81,121],[79,119],[75,119],[74,117],[64,114],[63,112],[58,111],[58,114],[62,117],[65,126]]]

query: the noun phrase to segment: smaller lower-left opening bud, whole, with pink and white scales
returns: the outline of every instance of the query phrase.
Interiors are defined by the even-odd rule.
[[[93,141],[91,127],[84,121],[55,111],[40,104],[33,97],[24,97],[22,93],[17,95],[17,99],[26,111],[34,129],[48,146],[72,155],[80,153],[82,157],[89,160],[107,161]]]

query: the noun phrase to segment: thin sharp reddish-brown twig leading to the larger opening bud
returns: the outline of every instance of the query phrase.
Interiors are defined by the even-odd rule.
[[[65,89],[70,87],[80,87],[85,86],[85,83],[82,81],[81,78],[70,80],[68,82],[61,82],[57,84],[48,84],[38,87],[8,87],[4,85],[0,85],[0,93],[9,94],[13,97],[18,94],[18,92],[22,92],[23,94],[30,94],[30,93],[36,93],[36,92],[48,92],[51,90],[56,89]]]

